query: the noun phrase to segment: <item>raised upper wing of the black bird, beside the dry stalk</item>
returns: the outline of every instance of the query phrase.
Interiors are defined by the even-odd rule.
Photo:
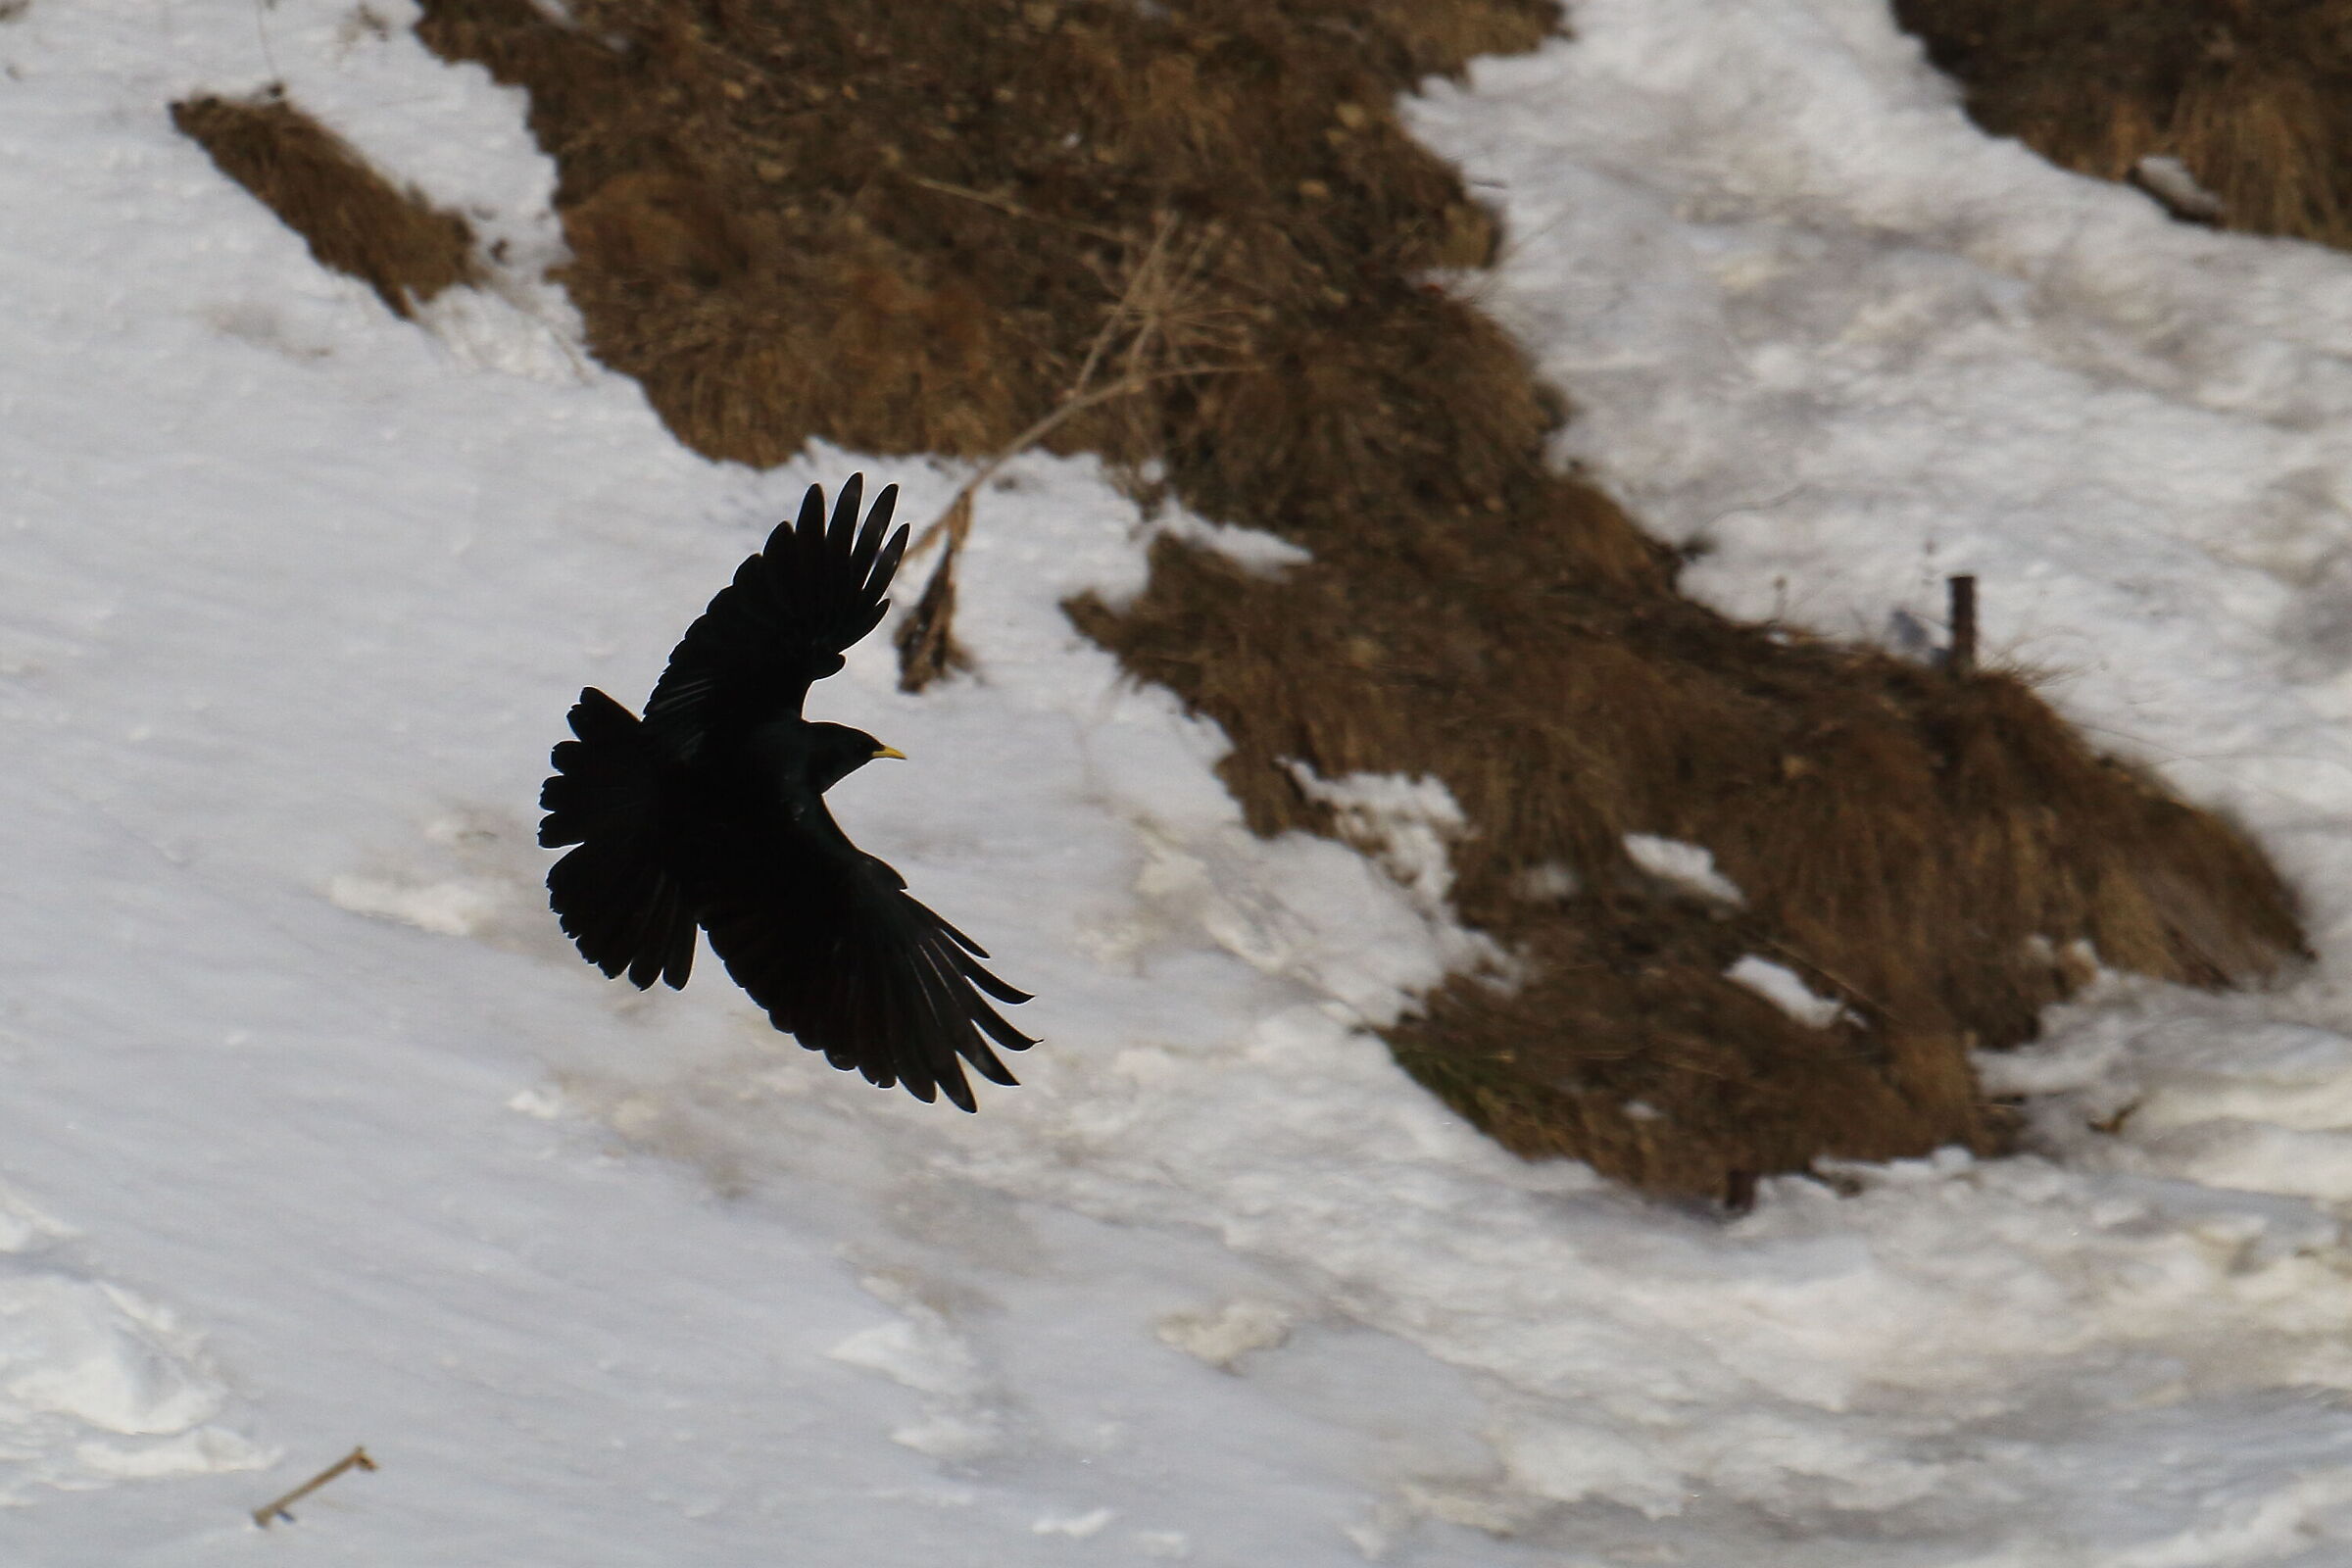
[[[811,484],[800,520],[779,524],[680,637],[644,703],[644,726],[673,757],[694,757],[720,726],[797,717],[809,686],[882,621],[906,529],[882,543],[896,484],[875,496],[861,527],[863,496],[866,475],[851,475],[828,527],[826,489]]]

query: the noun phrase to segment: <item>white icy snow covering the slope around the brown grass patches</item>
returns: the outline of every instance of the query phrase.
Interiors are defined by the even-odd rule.
[[[2314,905],[2288,994],[2117,985],[1994,1063],[2042,1154],[1726,1225],[1362,1032],[1475,952],[1461,816],[1319,780],[1367,853],[1247,835],[1058,614],[1143,569],[1087,463],[981,496],[981,679],[901,696],[877,637],[816,701],[910,752],[837,809],[1040,992],[1025,1088],[922,1107],[581,966],[532,844],[576,686],[640,701],[804,482],[960,475],[677,449],[522,282],[520,96],[379,14],[0,24],[0,1556],[245,1563],[365,1441],[315,1561],[2345,1561],[2352,263],[1985,143],[1860,5],[1585,5],[1418,110],[1703,592],[1877,635],[1976,569]],[[318,270],[165,118],[273,71],[513,275],[414,327]]]

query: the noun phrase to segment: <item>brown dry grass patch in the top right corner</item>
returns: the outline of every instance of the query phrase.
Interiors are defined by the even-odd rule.
[[[2176,158],[2225,228],[2352,244],[2352,0],[1896,0],[1896,16],[1992,134],[2100,179]]]

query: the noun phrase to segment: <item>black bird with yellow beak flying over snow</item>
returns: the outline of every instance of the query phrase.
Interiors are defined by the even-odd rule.
[[[898,487],[858,527],[863,494],[851,475],[828,527],[826,491],[809,487],[800,522],[779,524],[687,628],[642,719],[581,691],[579,738],[555,745],[539,792],[539,842],[576,844],[548,870],[548,903],[581,957],[637,990],[684,985],[701,926],[779,1030],[882,1088],[974,1110],[957,1058],[1011,1084],[988,1041],[1035,1041],[985,997],[1028,992],[981,969],[981,945],[826,811],[826,790],[903,752],[800,717],[809,686],[882,621],[906,552],[903,527],[882,543]]]

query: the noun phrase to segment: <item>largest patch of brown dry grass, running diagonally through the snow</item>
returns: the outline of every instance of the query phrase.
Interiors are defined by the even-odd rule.
[[[1489,261],[1496,226],[1390,108],[1536,42],[1548,5],[569,14],[428,0],[421,33],[529,87],[564,280],[680,440],[774,463],[818,435],[983,473],[1033,442],[1098,451],[1145,501],[1312,550],[1265,581],[1164,541],[1131,607],[1070,614],[1225,726],[1263,832],[1334,830],[1291,762],[1451,788],[1461,917],[1529,980],[1456,980],[1390,1044],[1510,1147],[1708,1194],[1820,1154],[1992,1150],[1966,1053],[2082,983],[2070,943],[2197,985],[2300,950],[2239,835],[2016,679],[1726,623],[1548,470],[1559,397],[1423,282]],[[957,668],[971,527],[1021,524],[974,520],[969,494],[936,524],[910,684]],[[1628,832],[1710,846],[1745,907],[1646,877]],[[1729,983],[1743,954],[1846,1020]]]

